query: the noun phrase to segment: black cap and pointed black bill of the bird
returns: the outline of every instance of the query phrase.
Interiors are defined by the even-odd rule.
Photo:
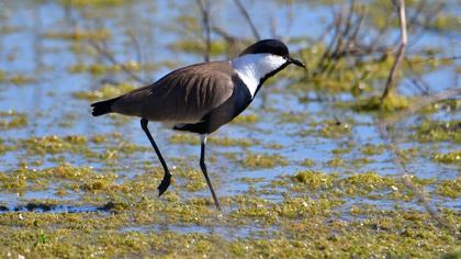
[[[294,64],[296,66],[305,68],[303,63],[290,56],[290,50],[288,49],[284,43],[274,38],[259,41],[250,45],[249,47],[247,47],[238,56],[244,56],[247,54],[263,54],[263,53],[281,56],[285,58],[289,64]]]

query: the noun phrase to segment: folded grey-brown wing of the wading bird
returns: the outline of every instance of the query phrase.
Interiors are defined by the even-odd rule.
[[[112,110],[150,121],[195,123],[232,95],[232,75],[224,61],[180,68],[122,95]]]

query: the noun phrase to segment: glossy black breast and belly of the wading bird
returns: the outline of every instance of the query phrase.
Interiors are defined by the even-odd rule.
[[[173,130],[210,134],[240,114],[251,103],[251,93],[237,75],[233,76],[233,82],[234,91],[231,98],[209,112],[201,122],[176,125]]]

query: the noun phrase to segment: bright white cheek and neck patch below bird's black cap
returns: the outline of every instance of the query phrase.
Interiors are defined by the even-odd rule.
[[[251,98],[254,98],[259,81],[285,63],[286,60],[283,57],[272,54],[247,54],[232,60],[231,66],[245,82]]]

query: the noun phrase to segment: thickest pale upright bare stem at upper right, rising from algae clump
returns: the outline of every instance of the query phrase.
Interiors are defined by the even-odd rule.
[[[405,55],[405,48],[408,43],[408,37],[406,34],[405,0],[397,0],[397,4],[398,4],[398,20],[401,24],[401,45],[398,46],[398,52],[396,54],[394,65],[392,66],[391,72],[389,74],[384,92],[381,97],[381,102],[384,101],[384,99],[389,95],[389,93],[392,91],[395,85],[395,76],[403,60],[403,57]]]

